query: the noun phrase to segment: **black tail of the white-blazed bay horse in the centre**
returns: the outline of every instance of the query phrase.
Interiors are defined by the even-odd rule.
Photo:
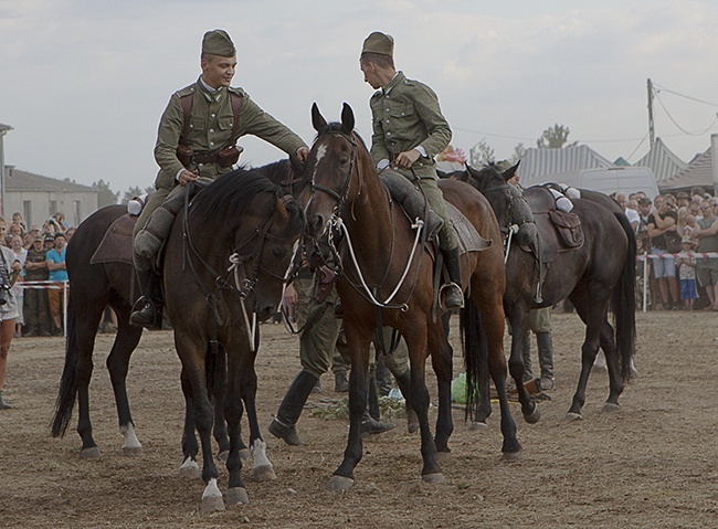
[[[464,308],[461,311],[460,328],[462,349],[464,350],[464,367],[466,368],[466,413],[468,419],[479,401],[479,392],[488,391],[482,388],[482,370],[488,366],[488,341],[482,321],[482,314],[474,300],[464,297]]]

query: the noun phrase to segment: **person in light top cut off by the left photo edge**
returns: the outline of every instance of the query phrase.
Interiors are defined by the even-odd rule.
[[[8,353],[18,318],[18,301],[12,294],[12,286],[21,269],[12,251],[0,246],[0,410],[12,408],[4,400],[4,382],[8,373]]]

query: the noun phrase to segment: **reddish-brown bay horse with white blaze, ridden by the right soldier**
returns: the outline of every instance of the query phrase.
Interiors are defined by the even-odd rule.
[[[353,130],[351,107],[344,104],[341,123],[327,124],[316,104],[312,121],[317,138],[307,159],[308,187],[299,195],[306,203],[305,237],[317,240],[341,230],[344,242],[335,248],[341,258],[337,290],[344,307],[344,329],[351,357],[349,379],[350,426],[344,459],[326,488],[349,489],[353,469],[361,459],[361,416],[367,402],[369,343],[378,325],[395,328],[405,339],[410,355],[411,384],[404,395],[419,416],[422,479],[442,483],[439,455],[448,454],[451,419],[452,351],[442,319],[434,319],[433,263],[429,251],[414,241],[412,222],[394,208],[381,183],[371,156]],[[500,241],[496,218],[488,202],[471,186],[442,182],[447,202],[456,207],[482,236]],[[337,239],[337,237],[335,237]],[[402,277],[403,276],[403,277]],[[405,281],[404,281],[405,278]],[[465,308],[462,310],[465,363],[469,403],[473,388],[487,355],[501,410],[504,457],[513,461],[521,449],[506,392],[506,360],[503,352],[504,311],[501,297],[505,272],[500,244],[462,256]],[[427,352],[439,381],[439,417],[432,438],[425,384]]]

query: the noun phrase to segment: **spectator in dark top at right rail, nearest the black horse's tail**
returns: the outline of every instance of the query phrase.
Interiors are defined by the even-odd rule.
[[[662,198],[661,201],[658,199]],[[651,253],[657,255],[653,260],[653,269],[658,281],[658,290],[663,300],[663,308],[671,309],[678,304],[678,281],[676,278],[676,261],[668,252],[669,237],[676,237],[678,215],[676,214],[676,199],[672,194],[656,197],[661,203],[648,216],[648,235],[651,236]],[[666,235],[668,233],[669,235]],[[654,304],[657,305],[657,304]],[[654,308],[657,308],[654,307]]]

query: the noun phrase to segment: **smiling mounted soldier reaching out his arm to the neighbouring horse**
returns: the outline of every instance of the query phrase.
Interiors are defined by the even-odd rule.
[[[260,108],[242,88],[230,86],[236,50],[225,31],[204,33],[200,66],[200,77],[172,94],[159,123],[157,191],[142,209],[134,233],[134,261],[144,294],[130,318],[136,325],[149,326],[155,320],[149,294],[157,283],[150,269],[150,252],[138,244],[137,235],[173,189],[199,177],[214,180],[230,172],[241,151],[235,144],[245,135],[262,138],[299,161],[309,154],[302,138]]]

